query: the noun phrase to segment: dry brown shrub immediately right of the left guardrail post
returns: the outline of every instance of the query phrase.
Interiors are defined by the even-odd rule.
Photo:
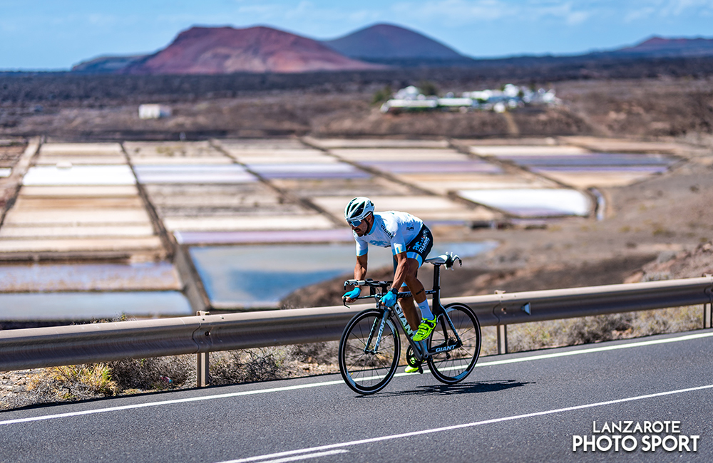
[[[276,380],[284,377],[286,348],[255,348],[211,353],[210,383],[213,385]]]

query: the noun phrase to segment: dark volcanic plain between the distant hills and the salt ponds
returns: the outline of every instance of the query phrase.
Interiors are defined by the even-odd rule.
[[[520,62],[521,61],[521,62]],[[483,62],[479,68],[223,76],[87,76],[0,73],[0,135],[63,140],[189,140],[274,135],[662,137],[713,133],[713,58],[579,63]],[[536,60],[535,60],[536,61]],[[441,95],[501,88],[554,88],[563,105],[507,115],[382,115],[374,95],[434,85]],[[173,116],[140,120],[138,105]],[[511,116],[511,117],[510,117]]]

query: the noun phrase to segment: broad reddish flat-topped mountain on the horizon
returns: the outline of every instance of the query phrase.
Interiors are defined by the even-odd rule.
[[[302,73],[377,69],[311,38],[269,27],[193,27],[153,55],[123,68],[128,74]]]

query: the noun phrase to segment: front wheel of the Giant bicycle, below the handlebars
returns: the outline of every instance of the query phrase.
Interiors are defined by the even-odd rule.
[[[372,308],[357,313],[344,328],[339,341],[339,371],[354,392],[374,394],[394,376],[400,353],[394,323],[389,318],[384,320],[384,311]]]

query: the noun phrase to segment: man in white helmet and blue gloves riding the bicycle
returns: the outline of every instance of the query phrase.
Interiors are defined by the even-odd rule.
[[[401,298],[400,305],[411,330],[416,332],[413,339],[421,341],[428,338],[436,327],[436,317],[431,313],[424,285],[416,275],[434,244],[429,227],[407,212],[374,212],[374,204],[366,197],[352,199],[344,208],[344,218],[352,227],[356,241],[354,279],[363,280],[366,276],[366,251],[369,244],[391,246],[394,254],[394,282],[389,292],[381,298],[381,303],[387,307],[394,306],[399,288],[407,286],[413,297]],[[352,291],[344,293],[342,298],[352,302],[360,293],[361,288],[356,286]],[[421,309],[421,323],[414,299]]]

